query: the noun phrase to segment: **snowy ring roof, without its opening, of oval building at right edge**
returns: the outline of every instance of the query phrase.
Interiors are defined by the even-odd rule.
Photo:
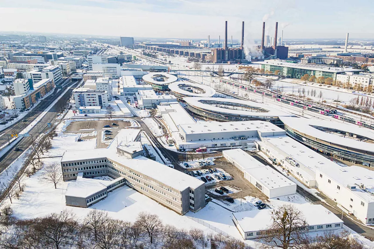
[[[356,140],[354,138],[344,137],[345,134],[336,135],[333,133],[323,132],[313,126],[326,127],[329,129],[337,129],[347,133],[357,134],[374,140],[374,132],[370,129],[363,128],[353,124],[330,122],[327,120],[304,119],[297,117],[280,117],[281,121],[288,127],[304,133],[313,138],[339,145],[345,148],[353,148],[363,151],[374,152],[374,144]],[[304,135],[303,134],[303,135]]]

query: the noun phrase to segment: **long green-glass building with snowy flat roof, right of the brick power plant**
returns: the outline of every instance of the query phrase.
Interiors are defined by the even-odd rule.
[[[257,64],[261,64],[261,69],[264,71],[270,71],[275,73],[278,72],[279,75],[288,76],[295,79],[300,79],[305,74],[315,77],[325,77],[336,80],[337,74],[342,74],[346,72],[352,72],[353,74],[358,74],[359,69],[353,68],[341,68],[341,67],[331,67],[322,65],[312,65],[312,64],[298,64],[291,63],[281,60],[267,60],[259,61]]]

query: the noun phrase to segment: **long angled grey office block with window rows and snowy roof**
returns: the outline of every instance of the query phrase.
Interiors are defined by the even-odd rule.
[[[205,206],[203,181],[143,156],[130,159],[118,153],[115,143],[108,148],[67,151],[62,156],[61,167],[64,181],[77,179],[79,173],[83,173],[83,177],[124,178],[129,187],[181,215],[189,210],[197,212]],[[95,193],[103,191],[107,192],[105,187]],[[86,205],[91,204],[87,203],[87,198],[91,199],[93,194],[89,194],[82,197]]]

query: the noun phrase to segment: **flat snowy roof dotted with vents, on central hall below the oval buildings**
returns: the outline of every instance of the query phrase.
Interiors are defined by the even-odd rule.
[[[275,124],[260,120],[233,121],[233,122],[205,122],[194,124],[181,124],[186,134],[215,133],[215,132],[239,132],[257,130],[259,132],[285,132]]]

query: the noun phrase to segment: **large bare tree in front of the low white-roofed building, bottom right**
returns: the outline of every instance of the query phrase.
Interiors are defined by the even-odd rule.
[[[263,231],[262,240],[268,248],[298,248],[306,230],[303,213],[292,205],[283,205],[272,211],[272,224]]]

